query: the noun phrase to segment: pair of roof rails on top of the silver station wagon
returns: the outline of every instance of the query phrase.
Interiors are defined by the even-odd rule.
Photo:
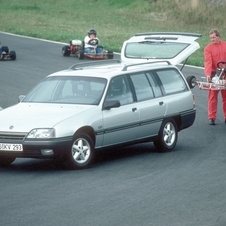
[[[77,63],[69,67],[69,69],[72,70],[82,70],[83,68],[89,67],[89,66],[97,66],[97,65],[104,65],[104,64],[115,64],[118,63],[120,64],[120,60],[102,60],[100,61],[93,61],[93,62],[83,62],[83,63]],[[166,63],[168,65],[171,65],[171,63],[167,60],[161,60],[161,61],[149,61],[149,62],[142,62],[142,63],[130,63],[130,64],[125,64],[124,67],[122,68],[122,71],[127,71],[129,67],[135,67],[139,65],[148,65],[148,64],[158,64],[158,63]]]

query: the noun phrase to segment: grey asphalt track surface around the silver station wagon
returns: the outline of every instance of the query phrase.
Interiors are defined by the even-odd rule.
[[[61,55],[62,43],[5,33],[0,40],[17,52],[16,61],[0,62],[3,108],[49,73],[78,62]],[[202,68],[183,71],[203,76]],[[87,170],[33,159],[0,168],[0,225],[225,226],[226,125],[219,104],[217,125],[209,126],[207,92],[193,92],[195,124],[179,133],[171,153],[147,143],[100,152]]]

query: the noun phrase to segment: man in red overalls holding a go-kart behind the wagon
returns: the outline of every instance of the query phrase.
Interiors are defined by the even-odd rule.
[[[216,74],[217,63],[220,61],[226,62],[226,42],[221,40],[219,31],[213,29],[209,32],[209,36],[211,43],[204,49],[204,71],[207,81],[211,81]],[[210,90],[208,93],[208,118],[210,125],[215,125],[217,118],[219,92],[221,92],[222,96],[224,122],[226,123],[226,90]]]

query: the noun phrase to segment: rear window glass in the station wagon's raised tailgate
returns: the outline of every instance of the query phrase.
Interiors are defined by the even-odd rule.
[[[173,42],[132,42],[125,48],[127,58],[171,59],[187,48],[187,43]]]

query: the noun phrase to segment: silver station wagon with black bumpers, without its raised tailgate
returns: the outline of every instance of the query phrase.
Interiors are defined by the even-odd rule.
[[[141,142],[171,151],[195,116],[189,84],[168,61],[76,64],[0,111],[0,165],[52,158],[83,169],[98,149]]]

